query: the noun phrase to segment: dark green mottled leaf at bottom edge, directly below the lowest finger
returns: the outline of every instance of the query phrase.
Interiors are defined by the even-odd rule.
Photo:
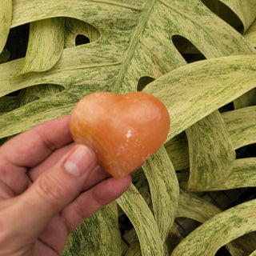
[[[115,202],[105,206],[70,234],[62,255],[122,255],[122,239],[117,217],[118,208]]]

